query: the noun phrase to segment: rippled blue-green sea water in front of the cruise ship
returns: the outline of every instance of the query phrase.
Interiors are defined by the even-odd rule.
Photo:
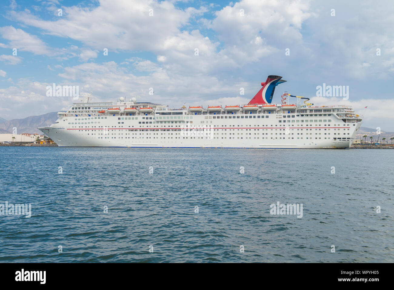
[[[0,147],[0,262],[394,262],[393,156]]]

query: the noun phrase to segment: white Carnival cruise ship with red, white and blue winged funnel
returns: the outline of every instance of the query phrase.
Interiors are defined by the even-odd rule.
[[[271,104],[275,87],[286,82],[270,75],[248,104],[171,109],[136,98],[117,102],[85,99],[39,127],[59,147],[303,148],[345,149],[362,118],[350,106],[314,106],[309,98],[285,92]],[[294,100],[295,104],[290,104]]]

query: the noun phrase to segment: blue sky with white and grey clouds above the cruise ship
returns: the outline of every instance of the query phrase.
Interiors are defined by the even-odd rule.
[[[12,0],[0,11],[5,119],[68,109],[72,98],[46,96],[52,83],[79,86],[94,101],[136,97],[179,108],[243,104],[277,74],[288,82],[273,102],[286,90],[361,114],[368,106],[364,126],[394,131],[390,1]],[[349,99],[316,97],[323,83],[349,86]]]

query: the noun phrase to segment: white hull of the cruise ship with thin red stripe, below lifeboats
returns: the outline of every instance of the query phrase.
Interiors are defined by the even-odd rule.
[[[294,120],[295,122],[284,125],[279,123],[278,114],[242,115],[246,118],[249,116],[266,117],[268,115],[269,119],[205,119],[206,116],[212,118],[214,115],[186,115],[186,112],[184,113],[185,115],[180,116],[182,119],[176,119],[177,121],[159,121],[157,119],[156,121],[150,121],[152,124],[148,125],[139,123],[141,122],[139,120],[145,117],[143,115],[133,117],[138,118],[137,120],[123,120],[124,124],[119,125],[118,118],[125,117],[115,115],[107,116],[106,119],[100,119],[100,117],[96,117],[99,119],[86,118],[88,120],[90,118],[100,120],[96,121],[98,122],[95,123],[96,125],[93,121],[91,122],[92,125],[72,126],[75,124],[69,123],[81,123],[70,122],[81,119],[72,116],[59,118],[54,125],[39,129],[55,141],[59,147],[343,149],[351,146],[356,132],[361,126],[361,122],[344,123],[342,120],[335,118],[334,114],[325,116],[326,119],[323,119],[323,116],[320,117],[322,121],[326,120],[324,123],[312,123],[307,127],[305,121],[313,121],[316,117],[290,117],[289,121]],[[218,116],[221,117],[222,115],[215,115],[215,117]],[[227,117],[232,116],[227,114]],[[193,118],[188,119],[193,121],[187,121],[188,123],[186,123],[186,117]],[[297,120],[303,120],[304,122],[301,125]],[[287,121],[287,119],[281,121]],[[170,122],[176,123],[172,124]],[[190,124],[189,122],[193,123]]]

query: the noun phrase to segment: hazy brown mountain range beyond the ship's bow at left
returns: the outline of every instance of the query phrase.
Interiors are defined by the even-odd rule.
[[[1,118],[2,119],[2,118]],[[24,119],[5,120],[0,122],[0,134],[12,133],[13,127],[17,127],[17,133],[38,133],[42,134],[37,127],[49,126],[58,119],[58,112],[46,113],[39,116],[30,116]],[[4,120],[4,119],[2,119]]]

